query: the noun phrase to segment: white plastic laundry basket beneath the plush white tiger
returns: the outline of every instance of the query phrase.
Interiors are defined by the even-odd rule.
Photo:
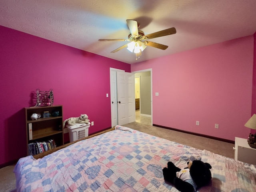
[[[89,124],[76,123],[76,125],[68,126],[70,142],[88,137],[89,127],[90,127],[90,122]]]

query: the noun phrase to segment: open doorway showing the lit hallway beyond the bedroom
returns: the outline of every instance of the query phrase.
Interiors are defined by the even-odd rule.
[[[133,73],[135,79],[135,121],[152,125],[152,70]]]

